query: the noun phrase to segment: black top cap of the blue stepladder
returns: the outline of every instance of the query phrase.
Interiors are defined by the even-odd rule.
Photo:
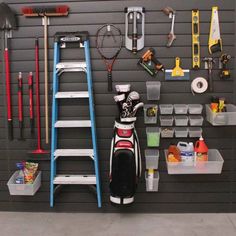
[[[81,42],[89,39],[89,32],[88,31],[76,31],[76,32],[57,32],[54,35],[54,42]]]

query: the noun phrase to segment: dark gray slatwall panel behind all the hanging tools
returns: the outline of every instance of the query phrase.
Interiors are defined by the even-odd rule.
[[[21,15],[20,9],[29,5],[25,0],[6,1],[16,11],[19,19],[19,29],[13,32],[14,38],[11,40],[11,77],[12,77],[12,103],[14,116],[14,133],[18,135],[17,122],[17,73],[22,71],[26,77],[29,71],[34,71],[34,37],[39,37],[40,41],[40,89],[41,89],[41,115],[42,127],[44,127],[44,78],[43,78],[43,27],[40,18],[25,18]],[[236,169],[235,169],[235,127],[215,128],[204,121],[204,137],[210,148],[217,148],[224,157],[225,163],[221,175],[168,175],[163,156],[163,149],[170,143],[178,142],[179,139],[161,140],[160,157],[160,190],[158,193],[145,192],[144,176],[140,180],[135,204],[125,209],[117,209],[109,204],[109,149],[113,132],[114,119],[117,116],[117,108],[113,102],[114,94],[108,93],[106,70],[103,61],[95,48],[95,33],[99,26],[110,22],[119,26],[124,33],[124,13],[126,6],[138,5],[146,8],[146,36],[145,49],[154,47],[158,58],[168,68],[172,67],[174,57],[182,58],[182,65],[187,68],[191,66],[191,9],[201,10],[201,55],[208,56],[208,33],[210,27],[211,7],[218,5],[220,12],[221,34],[223,39],[223,48],[226,53],[232,54],[230,68],[232,69],[232,78],[228,81],[221,81],[218,77],[219,70],[214,69],[214,95],[227,98],[229,102],[236,102],[236,82],[234,74],[236,73],[236,54],[234,48],[235,42],[235,4],[231,0],[141,0],[141,1],[63,1],[34,0],[33,4],[51,5],[68,4],[70,6],[70,15],[67,18],[51,18],[49,26],[49,72],[50,89],[52,87],[52,64],[53,64],[53,35],[57,31],[65,30],[88,30],[91,41],[91,57],[93,68],[93,84],[95,95],[95,111],[98,133],[98,147],[100,154],[103,208],[97,209],[96,199],[89,193],[84,186],[68,186],[63,188],[62,192],[56,198],[54,209],[49,207],[49,177],[50,163],[49,156],[32,156],[30,150],[36,147],[36,138],[31,137],[29,130],[29,109],[27,84],[24,84],[24,116],[25,116],[25,141],[15,139],[8,142],[5,130],[5,101],[4,101],[4,83],[0,84],[0,210],[10,211],[70,211],[70,212],[235,212],[236,211]],[[96,6],[96,7],[95,7]],[[177,10],[176,34],[177,40],[170,49],[165,47],[166,35],[170,29],[170,20],[165,16],[161,9],[165,6],[171,6]],[[144,49],[144,50],[145,50]],[[144,51],[143,50],[143,51]],[[137,60],[142,55],[139,52],[137,56],[132,55],[125,48],[122,49],[117,62],[114,65],[113,80],[116,83],[130,82],[132,89],[137,90],[142,100],[146,100],[145,82],[155,80],[149,77],[140,67],[137,66]],[[234,52],[234,53],[233,53]],[[76,53],[68,50],[63,53],[64,59],[81,58]],[[1,61],[2,62],[2,59]],[[203,68],[199,71],[192,71],[191,78],[196,76],[207,76]],[[1,76],[2,77],[2,76]],[[4,78],[2,78],[4,79]],[[162,94],[160,103],[208,103],[211,95],[203,94],[193,96],[190,91],[189,82],[165,82],[163,74],[158,75],[162,82]],[[24,80],[26,82],[26,79]],[[64,76],[61,79],[61,90],[70,90],[76,88],[85,88],[85,80],[78,81],[75,74]],[[51,99],[51,95],[50,95]],[[71,113],[73,111],[73,113]],[[76,119],[88,117],[86,103],[78,101],[62,101],[59,114],[62,118]],[[142,153],[146,148],[145,126],[143,123],[143,114],[138,114],[136,122],[137,132],[139,134]],[[85,130],[71,132],[71,130],[60,131],[60,147],[78,148],[79,145],[89,146],[90,135]],[[43,142],[45,141],[44,132],[42,132]],[[189,139],[182,139],[189,141]],[[47,148],[44,145],[45,148]],[[10,196],[6,182],[15,170],[15,163],[19,160],[38,160],[40,168],[43,171],[43,182],[40,191],[34,197]],[[143,158],[144,164],[144,158]],[[93,170],[90,161],[75,158],[59,160],[58,169],[61,173],[75,173],[77,171],[87,173]]]

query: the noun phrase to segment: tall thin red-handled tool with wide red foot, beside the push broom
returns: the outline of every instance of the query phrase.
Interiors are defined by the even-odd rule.
[[[35,40],[35,75],[36,75],[36,111],[37,111],[37,130],[38,130],[38,146],[32,151],[33,154],[48,154],[41,148],[41,122],[40,122],[40,89],[39,89],[39,42]]]

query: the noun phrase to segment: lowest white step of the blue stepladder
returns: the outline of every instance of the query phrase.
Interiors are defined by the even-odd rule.
[[[56,175],[53,184],[96,184],[95,175]]]

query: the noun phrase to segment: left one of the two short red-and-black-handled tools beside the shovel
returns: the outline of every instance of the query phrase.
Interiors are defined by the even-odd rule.
[[[19,119],[19,129],[20,137],[23,139],[23,82],[22,82],[22,73],[19,72],[18,75],[18,119]]]

